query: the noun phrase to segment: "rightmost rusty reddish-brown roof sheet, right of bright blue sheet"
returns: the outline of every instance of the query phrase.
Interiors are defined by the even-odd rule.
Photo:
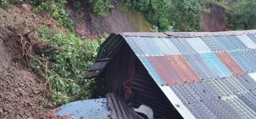
[[[215,52],[221,62],[233,73],[233,75],[244,75],[245,70],[226,51]]]

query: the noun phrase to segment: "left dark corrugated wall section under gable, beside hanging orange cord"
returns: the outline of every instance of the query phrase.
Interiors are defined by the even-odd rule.
[[[123,49],[112,58],[105,68],[106,91],[124,97],[124,82],[131,79],[134,75],[134,62],[136,55],[127,44]],[[129,65],[128,65],[129,64]],[[129,86],[129,83],[126,83]]]

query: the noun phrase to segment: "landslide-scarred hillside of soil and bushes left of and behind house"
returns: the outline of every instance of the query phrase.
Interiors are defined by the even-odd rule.
[[[62,118],[47,112],[68,102],[103,96],[104,82],[83,80],[82,73],[93,64],[99,46],[110,33],[230,29],[225,6],[191,3],[205,5],[195,8],[172,2],[170,6],[156,3],[159,11],[166,8],[159,12],[158,7],[148,8],[152,3],[145,7],[146,3],[133,2],[124,7],[124,1],[111,0],[111,12],[104,9],[105,16],[98,17],[91,8],[94,2],[2,0],[0,118]],[[176,10],[177,6],[182,8]],[[188,9],[183,11],[183,7]]]

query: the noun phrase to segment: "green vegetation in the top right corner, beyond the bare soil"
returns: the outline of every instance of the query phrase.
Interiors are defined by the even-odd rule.
[[[225,8],[229,29],[256,29],[255,0],[205,0],[205,2]]]

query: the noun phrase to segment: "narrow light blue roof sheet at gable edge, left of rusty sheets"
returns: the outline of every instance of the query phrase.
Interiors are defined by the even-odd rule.
[[[141,61],[141,63],[144,65],[144,67],[147,69],[150,76],[155,80],[155,82],[158,85],[166,85],[165,82],[161,79],[160,75],[157,73],[156,69],[153,67],[153,65],[150,63],[150,60],[148,60],[147,57],[139,56],[138,57]]]

